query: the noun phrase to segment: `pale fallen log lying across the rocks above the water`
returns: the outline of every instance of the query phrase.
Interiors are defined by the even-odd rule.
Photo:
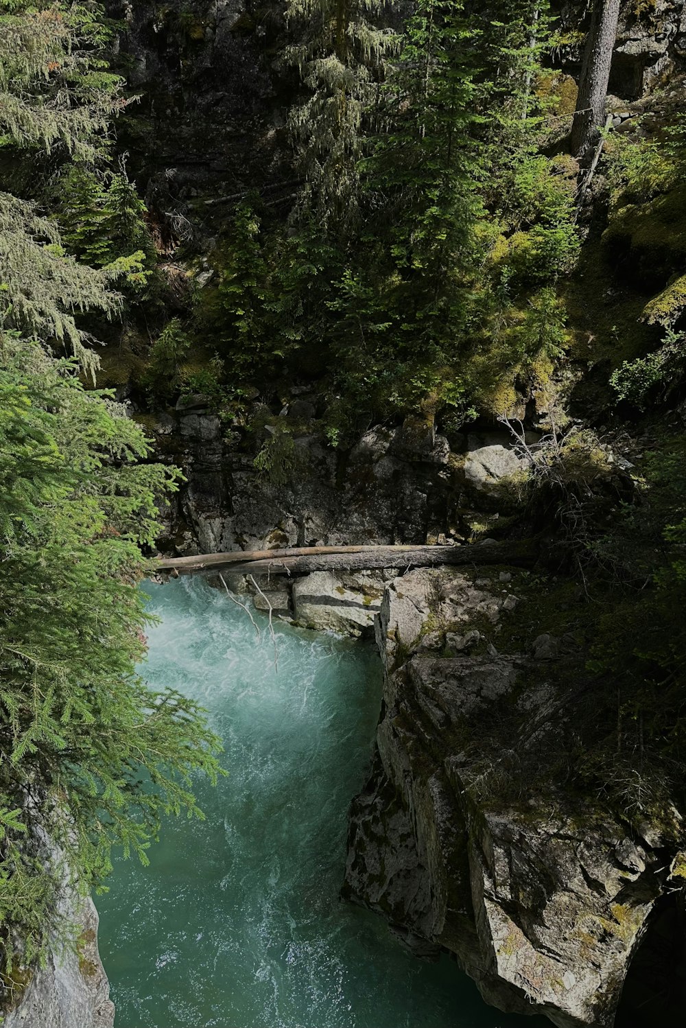
[[[291,550],[252,550],[207,553],[196,557],[160,557],[155,571],[161,575],[196,572],[235,575],[307,575],[310,572],[359,572],[380,567],[439,567],[507,564],[532,567],[538,548],[532,542],[478,544],[475,546],[308,546]]]

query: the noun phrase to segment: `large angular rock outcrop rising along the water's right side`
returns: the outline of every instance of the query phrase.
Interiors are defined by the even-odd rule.
[[[418,955],[454,954],[504,1011],[610,1028],[651,913],[670,902],[675,854],[564,781],[592,698],[569,689],[570,670],[583,673],[573,641],[496,650],[521,599],[506,571],[417,571],[386,586],[383,712],[343,895]],[[654,1001],[649,982],[639,988]]]

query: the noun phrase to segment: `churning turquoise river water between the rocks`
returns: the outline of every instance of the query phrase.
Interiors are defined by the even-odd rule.
[[[163,620],[144,673],[209,710],[229,777],[199,782],[205,821],[167,823],[151,867],[118,861],[98,897],[115,1028],[533,1028],[339,900],[380,707],[373,651],[279,624],[275,670],[262,616],[258,644],[199,579],[148,590]]]

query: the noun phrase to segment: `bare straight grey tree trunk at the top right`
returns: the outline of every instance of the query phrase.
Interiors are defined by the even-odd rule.
[[[579,98],[572,126],[572,153],[583,159],[605,124],[605,99],[617,38],[620,0],[596,0],[583,54]]]

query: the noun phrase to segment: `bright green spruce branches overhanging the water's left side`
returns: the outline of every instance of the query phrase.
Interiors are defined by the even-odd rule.
[[[141,463],[141,430],[106,394],[84,392],[69,362],[7,333],[0,399],[0,913],[11,965],[14,940],[28,961],[59,927],[62,871],[25,842],[26,827],[32,839],[47,832],[87,889],[103,883],[113,845],[145,860],[163,813],[198,816],[192,775],[218,768],[194,702],[154,694],[136,673],[148,620],[140,546],[154,543],[156,498],[178,474]]]

